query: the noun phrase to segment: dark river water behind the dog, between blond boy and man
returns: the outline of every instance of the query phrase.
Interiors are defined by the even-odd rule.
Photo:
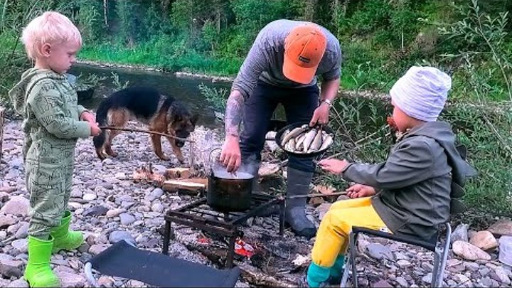
[[[177,78],[174,74],[160,73],[154,71],[100,67],[96,65],[76,64],[68,72],[73,75],[80,75],[86,78],[88,75],[95,74],[99,77],[105,77],[97,85],[94,95],[90,100],[81,100],[80,104],[87,109],[95,110],[100,102],[116,90],[116,85],[112,80],[112,73],[119,76],[119,82],[129,81],[129,86],[149,86],[155,87],[164,95],[170,95],[181,100],[191,110],[192,113],[200,115],[198,124],[209,128],[217,128],[222,125],[215,121],[213,108],[201,95],[198,85],[203,83],[208,87],[230,89],[229,82],[212,82],[204,79]]]

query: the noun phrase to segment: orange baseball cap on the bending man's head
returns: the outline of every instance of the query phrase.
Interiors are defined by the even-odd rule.
[[[284,39],[283,74],[289,80],[309,84],[327,46],[327,38],[314,23],[297,26]]]

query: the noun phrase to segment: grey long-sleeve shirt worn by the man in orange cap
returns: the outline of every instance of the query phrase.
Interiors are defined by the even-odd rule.
[[[262,28],[238,71],[231,90],[240,91],[247,99],[252,94],[258,79],[277,87],[299,88],[316,85],[316,77],[309,84],[304,85],[289,80],[282,73],[284,40],[289,31],[304,23],[307,22],[276,20]],[[324,81],[336,80],[341,75],[340,43],[326,28],[321,27],[321,30],[327,38],[327,46],[315,75],[321,75]]]

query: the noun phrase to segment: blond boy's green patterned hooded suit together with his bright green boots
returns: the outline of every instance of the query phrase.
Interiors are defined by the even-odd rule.
[[[9,92],[23,115],[23,160],[30,193],[29,261],[25,278],[31,287],[58,286],[48,265],[51,252],[72,250],[82,233],[69,230],[66,210],[73,183],[75,144],[90,136],[90,124],[80,121],[85,108],[67,78],[50,70],[31,68]]]

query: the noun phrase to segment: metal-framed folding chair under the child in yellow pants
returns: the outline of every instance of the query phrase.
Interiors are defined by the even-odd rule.
[[[404,242],[410,245],[417,245],[434,252],[434,267],[432,268],[431,287],[442,287],[444,267],[446,266],[448,258],[450,238],[452,238],[452,226],[450,226],[449,223],[444,223],[444,225],[446,226],[446,240],[444,242],[444,245],[440,245],[441,242],[439,241],[439,230],[431,238],[431,240],[425,241],[420,238],[413,238],[410,235],[395,235],[390,233],[384,233],[377,230],[371,230],[368,228],[353,227],[352,232],[348,237],[348,258],[345,265],[345,270],[343,271],[343,277],[341,278],[340,287],[346,287],[348,281],[348,274],[350,270],[352,271],[352,287],[358,287],[358,277],[356,269],[356,242],[358,235],[360,233],[395,240],[398,242]]]

